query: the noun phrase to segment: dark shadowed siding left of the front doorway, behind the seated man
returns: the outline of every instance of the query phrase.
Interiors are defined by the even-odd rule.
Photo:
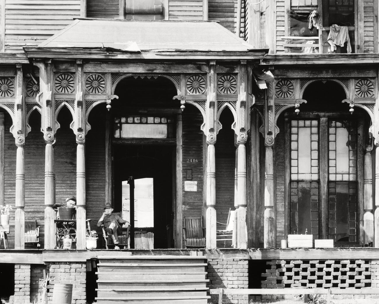
[[[96,224],[105,205],[105,113],[104,104],[91,111],[86,136],[86,216],[99,235],[97,248],[102,248],[102,230]]]

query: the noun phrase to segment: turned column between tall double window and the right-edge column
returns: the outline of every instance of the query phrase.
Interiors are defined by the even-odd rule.
[[[372,146],[369,145],[365,153],[365,176],[363,180],[365,212],[363,214],[363,231],[365,244],[369,244],[374,240],[372,150]]]

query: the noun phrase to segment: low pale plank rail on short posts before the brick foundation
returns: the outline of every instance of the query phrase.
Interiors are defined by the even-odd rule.
[[[210,294],[218,295],[218,304],[222,304],[223,295],[327,295],[329,304],[331,295],[379,295],[379,288],[215,288]]]

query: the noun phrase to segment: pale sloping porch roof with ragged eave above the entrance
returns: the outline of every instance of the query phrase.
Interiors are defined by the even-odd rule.
[[[76,19],[38,47],[25,47],[28,57],[41,54],[73,52],[108,58],[113,53],[124,54],[120,58],[144,58],[146,53],[175,56],[194,53],[218,55],[259,55],[267,50],[254,50],[242,38],[219,25],[208,21],[129,21],[109,19]],[[39,55],[38,55],[39,54]],[[117,54],[116,54],[117,55]],[[125,57],[127,55],[127,57]],[[43,57],[43,56],[42,56]],[[150,56],[147,56],[151,58]],[[249,59],[254,59],[250,57]],[[258,59],[258,58],[257,58]]]

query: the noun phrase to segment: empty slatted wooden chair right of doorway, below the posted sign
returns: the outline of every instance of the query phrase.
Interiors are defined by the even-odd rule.
[[[184,240],[186,248],[205,248],[205,236],[202,216],[184,218]]]

